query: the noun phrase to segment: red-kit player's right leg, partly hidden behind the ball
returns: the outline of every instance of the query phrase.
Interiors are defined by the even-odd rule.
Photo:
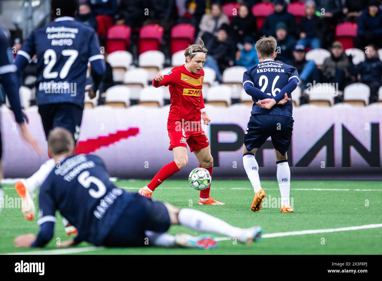
[[[194,151],[194,154],[199,161],[199,167],[206,169],[212,178],[212,167],[214,166],[214,159],[212,158],[210,147],[207,146],[198,151]],[[225,205],[225,203],[219,202],[210,197],[210,190],[211,187],[208,187],[205,190],[200,191],[198,201],[199,205]]]

